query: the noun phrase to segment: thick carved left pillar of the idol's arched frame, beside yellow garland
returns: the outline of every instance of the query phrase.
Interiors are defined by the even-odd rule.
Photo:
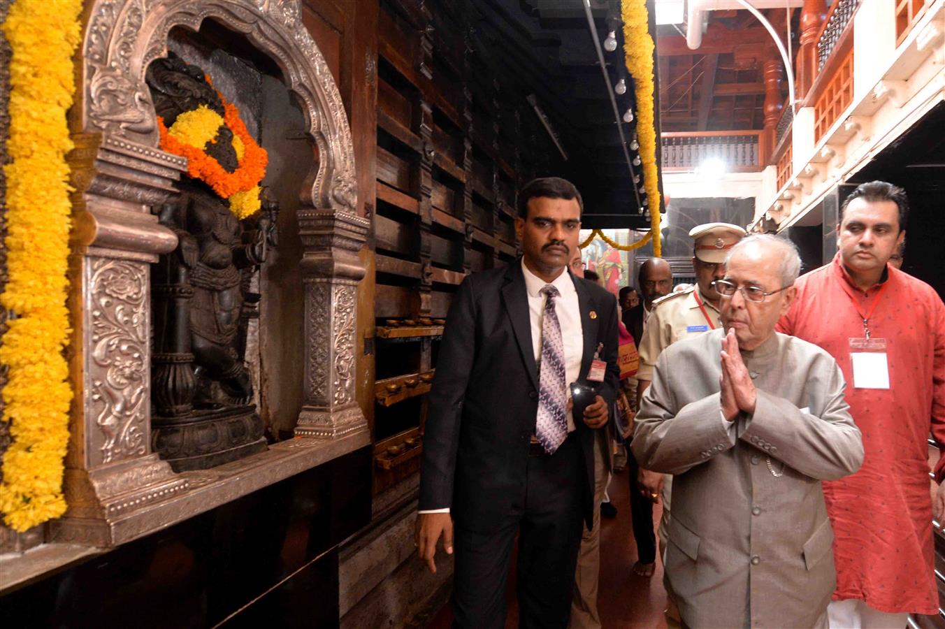
[[[73,139],[69,508],[51,531],[108,546],[117,521],[188,486],[150,449],[149,266],[177,236],[148,207],[176,194],[185,161],[109,132]]]

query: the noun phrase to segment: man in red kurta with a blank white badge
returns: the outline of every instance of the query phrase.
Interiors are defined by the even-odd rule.
[[[903,627],[937,614],[931,432],[945,443],[945,306],[931,286],[888,266],[905,235],[907,200],[882,181],[844,202],[833,262],[801,277],[778,331],[826,349],[843,370],[863,433],[860,470],[824,483],[833,522],[832,627]],[[935,515],[945,506],[945,457]]]

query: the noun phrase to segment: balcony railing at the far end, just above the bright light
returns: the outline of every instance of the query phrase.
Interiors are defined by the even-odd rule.
[[[730,172],[757,172],[763,164],[761,130],[696,131],[662,134],[662,167],[695,170],[704,161],[724,161]]]

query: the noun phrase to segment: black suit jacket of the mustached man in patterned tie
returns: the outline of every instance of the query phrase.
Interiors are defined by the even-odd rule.
[[[570,274],[570,271],[568,271]],[[617,301],[571,276],[584,335],[581,382],[610,405],[617,367]],[[598,343],[604,382],[586,382]],[[529,442],[538,414],[539,373],[522,259],[463,280],[439,348],[423,434],[420,509],[450,507],[458,526],[489,533],[524,493]],[[593,517],[593,430],[576,422],[584,451],[584,516]]]

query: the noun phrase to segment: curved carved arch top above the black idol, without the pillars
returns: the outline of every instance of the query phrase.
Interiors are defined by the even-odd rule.
[[[351,129],[341,94],[318,46],[301,23],[298,0],[97,0],[83,42],[77,107],[81,131],[156,147],[158,131],[145,73],[167,55],[175,26],[198,31],[211,18],[246,35],[283,71],[302,105],[318,162],[302,204],[353,213],[356,207]]]

